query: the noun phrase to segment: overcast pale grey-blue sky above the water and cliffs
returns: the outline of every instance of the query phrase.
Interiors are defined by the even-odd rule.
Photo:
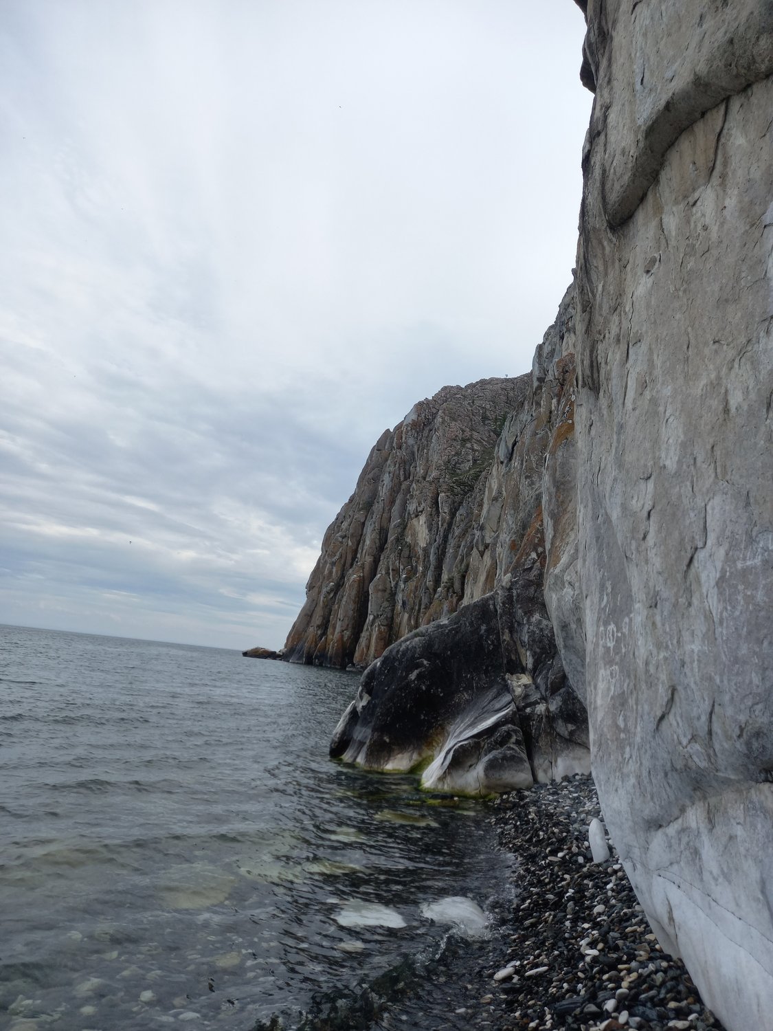
[[[0,623],[279,647],[370,447],[574,264],[572,0],[3,0]]]

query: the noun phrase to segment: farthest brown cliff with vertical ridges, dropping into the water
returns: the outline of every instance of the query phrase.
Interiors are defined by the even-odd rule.
[[[384,431],[325,534],[287,659],[367,666],[393,641],[457,609],[485,473],[504,422],[530,388],[528,375],[444,387]]]

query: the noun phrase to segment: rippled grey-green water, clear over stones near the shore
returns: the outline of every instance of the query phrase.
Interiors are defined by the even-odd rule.
[[[357,685],[1,627],[0,1027],[466,1027],[496,932],[443,900],[508,860],[480,803],[328,759]]]

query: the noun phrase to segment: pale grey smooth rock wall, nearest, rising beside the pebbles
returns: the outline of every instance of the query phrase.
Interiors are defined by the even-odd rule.
[[[594,774],[662,943],[745,1031],[773,1013],[773,5],[590,0],[586,18]],[[574,573],[556,574],[567,640]]]

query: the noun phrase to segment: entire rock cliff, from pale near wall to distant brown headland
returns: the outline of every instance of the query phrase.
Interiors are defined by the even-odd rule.
[[[444,388],[383,434],[285,658],[367,667],[347,761],[480,794],[592,768],[649,928],[633,963],[653,935],[731,1031],[766,1029],[773,5],[580,7],[595,101],[556,323],[531,373]],[[668,1008],[653,969],[631,1025]],[[628,979],[598,995],[610,1028]],[[686,1004],[667,1026],[703,1021]]]

